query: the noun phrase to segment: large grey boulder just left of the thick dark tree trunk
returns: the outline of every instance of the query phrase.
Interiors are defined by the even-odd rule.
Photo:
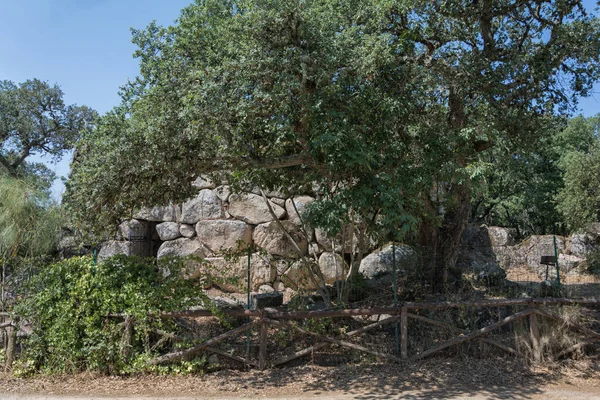
[[[359,272],[367,278],[379,278],[391,274],[394,269],[393,246],[384,246],[381,250],[375,251],[362,259]],[[398,273],[414,269],[418,262],[418,256],[415,251],[405,244],[396,245],[396,271]]]

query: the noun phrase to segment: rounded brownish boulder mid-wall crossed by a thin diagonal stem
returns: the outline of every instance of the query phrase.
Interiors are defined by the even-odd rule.
[[[283,226],[281,228],[279,222]],[[261,224],[254,229],[254,243],[267,253],[288,257],[299,258],[308,253],[308,240],[300,227],[291,221],[272,221]],[[294,243],[285,234],[287,231],[298,245],[300,253]]]

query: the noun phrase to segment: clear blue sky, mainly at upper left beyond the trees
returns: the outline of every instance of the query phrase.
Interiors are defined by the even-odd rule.
[[[105,113],[119,103],[119,87],[134,78],[137,61],[129,28],[152,20],[170,25],[192,0],[0,0],[0,79],[58,83],[67,104]],[[584,1],[588,10],[595,1]],[[600,112],[600,85],[580,103]],[[52,168],[66,176],[70,157]],[[57,181],[55,196],[64,189]]]

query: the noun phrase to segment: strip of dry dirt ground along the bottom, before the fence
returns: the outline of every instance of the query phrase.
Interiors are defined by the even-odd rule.
[[[504,358],[457,357],[407,365],[309,363],[196,376],[0,374],[0,398],[600,399],[600,360],[531,367]]]

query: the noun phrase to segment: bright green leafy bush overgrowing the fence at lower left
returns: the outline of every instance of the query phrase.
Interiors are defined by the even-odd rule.
[[[153,260],[123,256],[99,265],[80,257],[48,266],[31,280],[31,294],[16,309],[34,328],[22,364],[45,372],[143,370],[153,354],[170,348],[165,337],[177,329],[158,317],[160,311],[209,305],[182,271],[184,260],[171,259],[159,270]],[[124,323],[114,314],[130,319]]]

